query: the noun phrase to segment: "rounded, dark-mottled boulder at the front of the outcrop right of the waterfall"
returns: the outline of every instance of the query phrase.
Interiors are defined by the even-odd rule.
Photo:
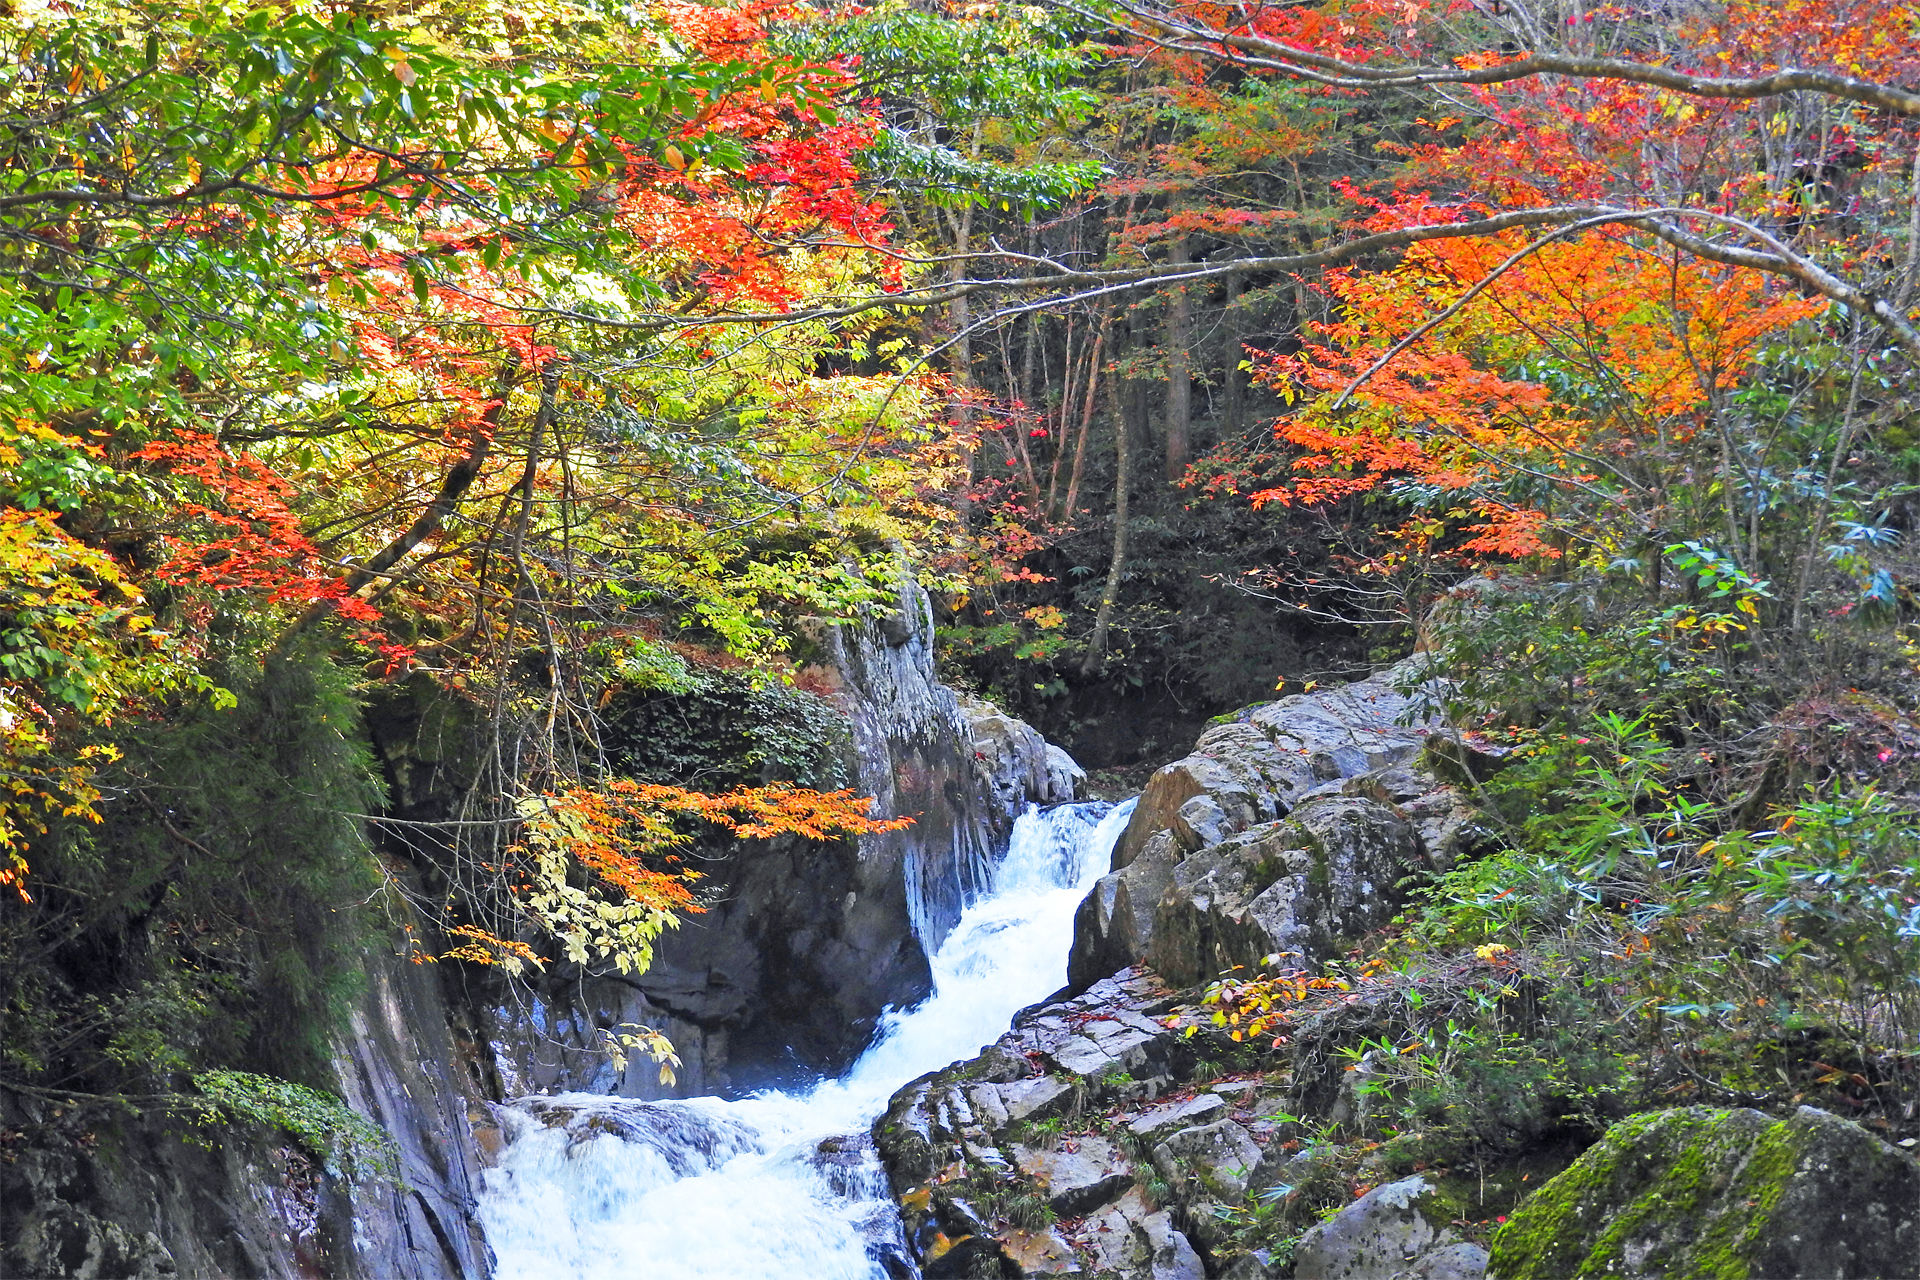
[[[1154,912],[1146,961],[1175,984],[1267,956],[1311,967],[1384,925],[1394,887],[1419,869],[1413,827],[1392,808],[1319,796],[1177,864]]]

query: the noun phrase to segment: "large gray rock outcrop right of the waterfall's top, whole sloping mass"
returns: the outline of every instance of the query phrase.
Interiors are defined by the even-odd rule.
[[[1075,915],[1069,984],[1142,960],[1173,983],[1313,963],[1386,923],[1409,871],[1457,858],[1473,810],[1421,766],[1438,725],[1396,689],[1415,662],[1250,708],[1154,773]]]

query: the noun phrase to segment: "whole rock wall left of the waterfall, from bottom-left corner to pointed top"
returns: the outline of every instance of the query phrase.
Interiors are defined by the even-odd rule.
[[[914,827],[735,846],[705,865],[712,910],[632,981],[574,975],[503,1000],[484,973],[415,963],[401,938],[376,948],[334,1071],[349,1107],[394,1138],[390,1178],[346,1178],[269,1126],[202,1140],[161,1113],[0,1090],[0,1274],[482,1278],[474,1203],[503,1140],[490,1103],[743,1092],[849,1061],[887,1006],[927,994],[925,948],[985,887],[1018,812],[1075,798],[1085,775],[937,679],[931,610],[910,581],[891,614],[829,631],[826,651],[814,676],[847,716],[856,787]],[[392,812],[445,818],[467,739],[444,708],[401,710],[372,725]],[[413,925],[430,942],[432,925]],[[618,1023],[668,1032],[678,1084],[645,1059],[612,1069],[597,1044]]]

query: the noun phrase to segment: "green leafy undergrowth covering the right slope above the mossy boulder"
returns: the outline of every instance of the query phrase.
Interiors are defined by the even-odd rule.
[[[1836,691],[1764,622],[1766,583],[1670,558],[1663,597],[1484,587],[1434,626],[1476,725],[1452,771],[1498,839],[1361,979],[1348,1065],[1407,1161],[1511,1159],[1672,1098],[1895,1128],[1920,1103],[1910,645],[1859,616],[1805,637],[1860,658]]]

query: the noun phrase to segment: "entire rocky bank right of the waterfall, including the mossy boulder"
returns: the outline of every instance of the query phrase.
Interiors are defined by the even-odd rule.
[[[1461,787],[1488,760],[1425,714],[1421,679],[1250,708],[1152,777],[1079,910],[1069,990],[874,1126],[929,1280],[1912,1268],[1920,1163],[1811,1107],[1651,1111],[1471,1171],[1382,1134],[1396,1050],[1367,1038],[1373,996],[1311,975],[1486,842]],[[1256,969],[1319,983],[1319,1021],[1217,1019],[1206,984]]]

